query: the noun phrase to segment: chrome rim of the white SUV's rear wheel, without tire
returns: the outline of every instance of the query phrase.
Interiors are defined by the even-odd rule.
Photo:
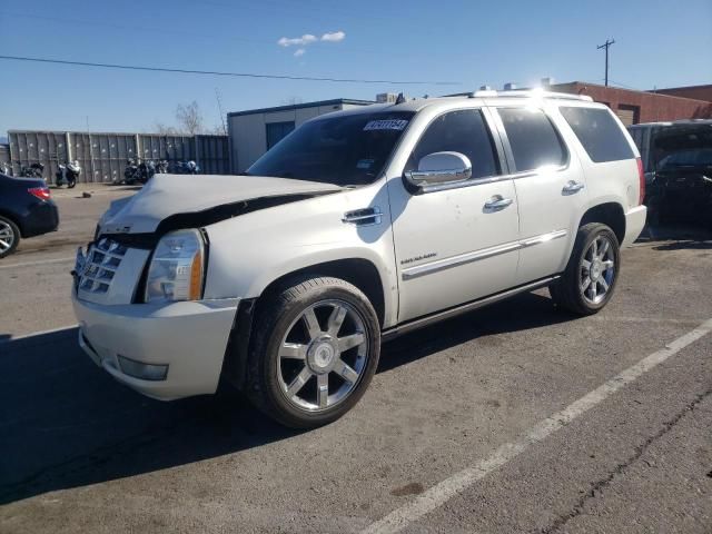
[[[615,254],[607,236],[596,236],[589,245],[580,268],[580,287],[590,304],[600,304],[615,279]]]

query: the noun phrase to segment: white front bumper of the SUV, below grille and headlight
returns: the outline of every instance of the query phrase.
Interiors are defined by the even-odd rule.
[[[161,400],[215,393],[238,299],[103,306],[77,299],[79,345],[118,382]],[[119,355],[168,366],[165,379],[123,372]]]

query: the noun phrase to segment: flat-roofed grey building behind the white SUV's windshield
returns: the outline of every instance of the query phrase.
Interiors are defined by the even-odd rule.
[[[230,169],[241,172],[306,120],[332,111],[375,103],[372,100],[338,98],[276,108],[228,113]]]

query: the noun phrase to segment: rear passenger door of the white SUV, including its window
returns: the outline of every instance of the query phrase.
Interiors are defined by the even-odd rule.
[[[561,273],[587,191],[578,160],[543,107],[494,108],[516,188],[522,249],[517,284]]]

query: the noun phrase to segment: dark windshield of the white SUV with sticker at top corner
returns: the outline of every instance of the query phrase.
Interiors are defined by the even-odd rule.
[[[246,174],[338,186],[372,184],[413,115],[376,112],[312,120],[279,141]]]

